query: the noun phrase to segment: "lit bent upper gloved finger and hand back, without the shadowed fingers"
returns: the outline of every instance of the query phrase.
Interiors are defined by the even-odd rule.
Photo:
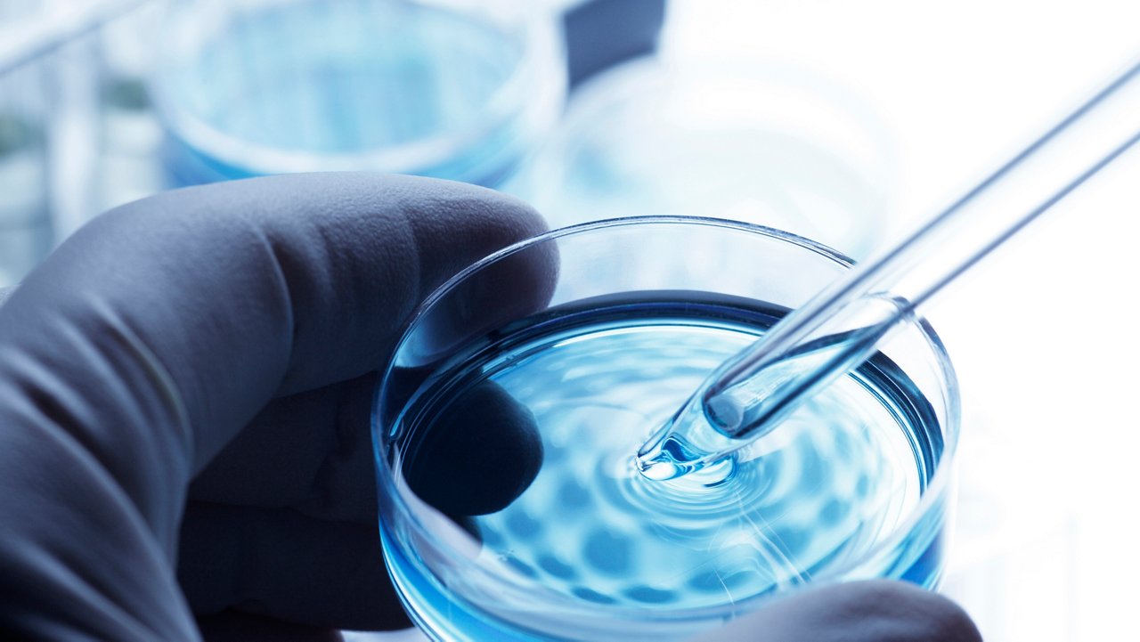
[[[19,527],[0,593],[18,587],[30,621],[113,613],[72,618],[93,637],[185,637],[164,568],[190,477],[269,398],[376,368],[439,281],[540,227],[474,187],[316,174],[169,193],[81,229],[0,308],[0,477],[23,489],[0,505]],[[490,300],[542,299],[552,266]]]

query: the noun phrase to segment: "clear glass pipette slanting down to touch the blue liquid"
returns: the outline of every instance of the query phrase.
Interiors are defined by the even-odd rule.
[[[857,368],[944,285],[1140,140],[1140,63],[902,242],[717,367],[637,453],[650,479],[715,482],[734,454]]]

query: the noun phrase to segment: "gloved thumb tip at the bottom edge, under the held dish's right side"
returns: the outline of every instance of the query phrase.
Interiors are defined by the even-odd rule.
[[[958,604],[882,579],[812,588],[694,642],[982,642]]]

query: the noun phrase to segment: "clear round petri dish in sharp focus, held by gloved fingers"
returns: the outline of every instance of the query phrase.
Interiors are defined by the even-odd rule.
[[[652,481],[641,444],[723,359],[850,265],[739,221],[552,231],[414,314],[373,420],[384,560],[437,640],[678,640],[773,595],[937,584],[958,387],[911,323],[739,452]]]

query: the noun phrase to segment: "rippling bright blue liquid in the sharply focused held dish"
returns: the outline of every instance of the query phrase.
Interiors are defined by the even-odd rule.
[[[416,431],[431,430],[431,417],[478,383],[491,381],[530,409],[545,448],[538,477],[511,505],[467,528],[473,523],[482,542],[480,566],[543,587],[531,609],[548,600],[551,611],[587,607],[617,619],[725,606],[739,613],[763,595],[833,579],[837,569],[840,577],[931,586],[942,568],[940,511],[880,546],[914,511],[943,449],[929,403],[882,355],[708,485],[699,476],[652,481],[636,471],[634,454],[649,433],[782,315],[754,302],[687,299],[648,295],[548,311],[453,360],[402,415],[392,461],[414,466]],[[527,604],[465,594],[462,578],[427,577],[408,539],[390,525],[382,534],[404,599],[438,635],[596,634],[539,634],[532,619],[513,625]]]

